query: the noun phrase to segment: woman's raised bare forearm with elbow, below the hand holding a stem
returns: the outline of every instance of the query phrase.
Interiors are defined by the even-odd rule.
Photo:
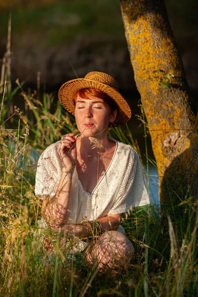
[[[56,194],[52,198],[44,198],[42,215],[52,228],[64,224],[70,215],[72,172],[63,169]]]

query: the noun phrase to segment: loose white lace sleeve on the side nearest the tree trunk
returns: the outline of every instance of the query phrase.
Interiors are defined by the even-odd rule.
[[[135,150],[128,156],[127,164],[115,203],[108,214],[124,213],[132,207],[150,203],[140,158]]]

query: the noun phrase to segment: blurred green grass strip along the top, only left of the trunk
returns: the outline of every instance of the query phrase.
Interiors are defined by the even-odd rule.
[[[109,15],[111,17],[109,17]],[[1,13],[0,32],[6,38],[7,12]],[[48,5],[35,5],[23,9],[20,5],[12,10],[12,35],[20,36],[29,31],[43,40],[45,46],[61,45],[73,41],[76,36],[105,35],[124,40],[119,0],[55,1]],[[40,33],[39,33],[40,32]],[[64,42],[63,42],[64,41]]]

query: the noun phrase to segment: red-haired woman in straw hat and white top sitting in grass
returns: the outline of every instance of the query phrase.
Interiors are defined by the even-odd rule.
[[[120,225],[122,214],[149,203],[137,152],[107,137],[109,126],[130,119],[130,107],[114,78],[101,72],[66,82],[59,99],[75,115],[80,134],[64,135],[39,159],[35,194],[43,198],[40,226],[82,239],[70,252],[86,248],[90,265],[115,267],[114,258],[123,265],[134,247]],[[83,238],[90,236],[86,243]]]

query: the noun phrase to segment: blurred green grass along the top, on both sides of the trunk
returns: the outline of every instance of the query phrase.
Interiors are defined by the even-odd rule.
[[[20,37],[26,36],[26,32],[35,43],[43,44],[45,36],[45,47],[68,43],[79,35],[89,38],[105,35],[111,40],[124,41],[119,0],[114,0],[113,4],[111,0],[52,0],[36,4],[29,0],[29,4],[20,2],[17,5],[15,1],[15,5],[9,5],[11,2],[14,1],[8,1],[6,5],[5,1],[0,1],[1,39],[6,40],[8,12],[12,7],[12,36],[16,41],[23,42]],[[166,5],[176,37],[197,28],[195,0],[166,0]]]

